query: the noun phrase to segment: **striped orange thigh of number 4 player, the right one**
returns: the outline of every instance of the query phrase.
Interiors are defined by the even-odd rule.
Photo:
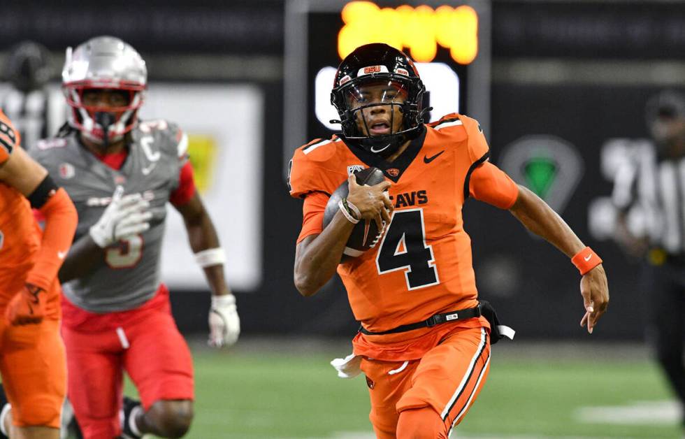
[[[485,383],[490,343],[484,328],[459,329],[428,351],[414,371],[398,411],[430,406],[447,431],[461,422]]]

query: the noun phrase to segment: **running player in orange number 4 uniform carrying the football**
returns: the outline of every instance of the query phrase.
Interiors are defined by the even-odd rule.
[[[590,332],[609,301],[601,259],[544,201],[489,163],[475,120],[452,114],[422,123],[424,90],[403,52],[380,43],[357,48],[340,64],[331,95],[343,132],[299,148],[291,165],[291,195],[304,199],[295,285],[312,296],[336,268],[343,279],[361,329],[353,354],[334,366],[343,377],[366,374],[378,438],[447,438],[486,380],[497,331],[478,301],[461,217],[468,196],[510,210],[572,257],[582,273],[581,325]],[[350,174],[366,166],[387,180],[356,184]],[[329,194],[345,179],[345,212],[322,229]],[[359,220],[387,226],[373,249],[341,264]]]

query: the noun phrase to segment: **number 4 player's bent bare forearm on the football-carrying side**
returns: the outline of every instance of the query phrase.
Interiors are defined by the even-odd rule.
[[[305,297],[316,294],[336,273],[354,224],[336,213],[331,224],[314,238],[305,238],[295,252],[295,287]]]

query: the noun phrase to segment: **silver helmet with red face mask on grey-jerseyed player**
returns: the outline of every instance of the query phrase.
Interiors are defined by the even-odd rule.
[[[92,143],[120,141],[138,122],[147,87],[147,68],[138,52],[119,38],[99,36],[68,48],[62,89],[71,106],[69,124]],[[93,92],[121,92],[125,105],[89,103]]]

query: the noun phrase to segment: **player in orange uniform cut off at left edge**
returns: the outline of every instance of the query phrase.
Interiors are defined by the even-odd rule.
[[[45,231],[31,207],[45,216]],[[22,150],[0,112],[0,375],[12,405],[11,422],[8,410],[0,414],[0,430],[13,425],[12,438],[59,438],[66,361],[57,271],[76,222],[69,196]]]

